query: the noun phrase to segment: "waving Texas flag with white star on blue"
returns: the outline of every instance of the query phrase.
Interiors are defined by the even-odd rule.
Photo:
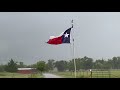
[[[50,39],[48,40],[48,44],[58,45],[63,43],[70,43],[70,31],[71,28],[67,29],[65,32],[63,32],[60,36],[50,36]]]

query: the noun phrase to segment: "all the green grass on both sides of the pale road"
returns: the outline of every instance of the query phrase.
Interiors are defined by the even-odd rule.
[[[74,72],[53,72],[63,78],[74,78]],[[42,74],[20,74],[0,72],[0,78],[44,78]],[[120,70],[93,71],[92,77],[90,71],[77,72],[77,78],[120,78]]]

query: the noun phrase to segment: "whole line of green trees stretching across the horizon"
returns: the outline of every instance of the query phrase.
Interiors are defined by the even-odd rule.
[[[80,69],[120,69],[120,57],[113,57],[112,59],[104,60],[98,59],[93,60],[87,56],[83,58],[76,58],[76,68]],[[47,62],[40,60],[32,65],[25,65],[23,62],[15,62],[15,60],[11,59],[6,65],[0,65],[0,71],[7,72],[16,72],[17,68],[37,68],[38,71],[52,71],[57,68],[58,71],[74,71],[74,61],[69,60],[48,60]]]

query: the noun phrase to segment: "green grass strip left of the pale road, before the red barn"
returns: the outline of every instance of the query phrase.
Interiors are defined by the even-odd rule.
[[[0,72],[0,78],[43,78],[43,75]]]

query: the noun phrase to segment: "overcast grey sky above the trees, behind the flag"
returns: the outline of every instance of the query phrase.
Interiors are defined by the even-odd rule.
[[[75,57],[120,56],[120,12],[0,12],[0,63],[71,59],[70,45],[45,42],[71,27],[72,19]]]

